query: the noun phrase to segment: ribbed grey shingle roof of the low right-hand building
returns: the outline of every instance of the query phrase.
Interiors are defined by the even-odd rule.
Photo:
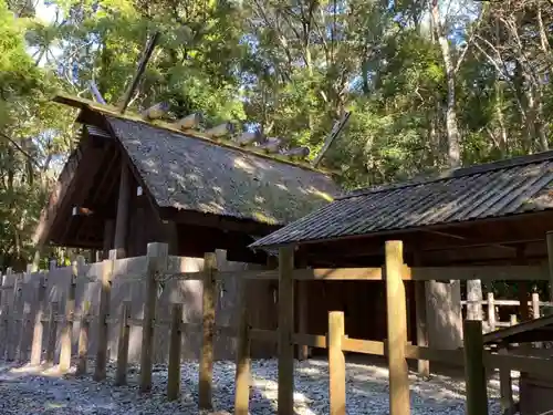
[[[451,170],[426,181],[359,189],[251,248],[376,235],[553,208],[553,152]]]

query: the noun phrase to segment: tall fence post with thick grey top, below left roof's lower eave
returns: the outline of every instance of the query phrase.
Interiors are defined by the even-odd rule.
[[[152,390],[154,362],[154,326],[157,307],[158,276],[167,269],[167,243],[153,242],[147,248],[146,302],[142,330],[140,392]]]

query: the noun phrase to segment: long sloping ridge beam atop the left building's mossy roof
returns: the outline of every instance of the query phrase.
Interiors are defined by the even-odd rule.
[[[313,166],[311,166],[311,165],[309,165],[306,163],[298,163],[298,162],[293,162],[291,159],[284,158],[282,156],[269,155],[269,154],[265,154],[265,153],[262,153],[262,152],[258,152],[258,151],[252,149],[252,148],[244,148],[244,147],[242,147],[240,145],[231,144],[228,141],[227,142],[215,141],[215,139],[212,139],[212,138],[210,138],[210,137],[208,137],[208,136],[206,136],[206,135],[204,135],[201,133],[198,133],[196,131],[186,131],[186,132],[184,132],[181,129],[173,127],[169,123],[166,123],[166,122],[163,122],[163,121],[156,121],[155,123],[153,123],[153,122],[148,122],[148,121],[146,121],[146,120],[139,117],[138,115],[133,114],[133,113],[131,113],[132,115],[129,115],[128,112],[125,113],[125,114],[121,114],[117,111],[117,108],[114,107],[113,105],[100,104],[100,103],[94,102],[92,100],[82,98],[82,97],[75,97],[75,96],[71,96],[71,95],[64,94],[64,93],[58,93],[54,96],[53,101],[58,102],[58,103],[61,103],[61,104],[70,105],[70,106],[73,106],[73,107],[77,107],[79,105],[76,105],[76,103],[79,103],[79,104],[87,106],[92,111],[98,111],[98,112],[101,112],[101,113],[103,113],[104,115],[107,115],[107,116],[113,116],[113,117],[117,117],[117,118],[121,118],[121,120],[124,120],[124,121],[129,121],[129,122],[138,122],[138,123],[142,123],[142,124],[150,126],[150,127],[156,127],[156,128],[164,129],[164,131],[167,131],[167,132],[170,132],[170,133],[180,134],[180,135],[189,137],[189,138],[200,139],[200,141],[204,141],[206,143],[209,143],[209,144],[213,144],[213,145],[219,146],[219,147],[234,149],[234,151],[241,152],[243,154],[259,156],[259,157],[262,157],[262,158],[265,158],[265,159],[270,159],[270,160],[273,160],[273,162],[278,162],[278,163],[286,164],[286,165],[290,165],[290,166],[299,167],[299,168],[302,168],[304,170],[320,173],[320,174],[326,175],[326,176],[331,176],[331,175],[335,174],[335,172],[326,170],[326,169],[322,169],[322,168],[316,168],[316,167],[313,167]]]

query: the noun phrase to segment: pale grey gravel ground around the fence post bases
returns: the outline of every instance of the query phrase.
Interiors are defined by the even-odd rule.
[[[91,362],[92,363],[92,362]],[[166,366],[154,369],[150,394],[138,393],[138,370],[129,369],[128,386],[113,385],[115,366],[108,367],[108,380],[93,382],[91,376],[75,377],[71,372],[60,376],[55,369],[17,366],[0,363],[0,414],[197,414],[198,364],[182,365],[181,398],[165,400]],[[252,363],[253,387],[250,413],[274,414],[276,400],[276,361]],[[388,414],[388,373],[374,365],[347,364],[347,414]],[[446,376],[422,380],[410,376],[411,414],[465,414],[463,382]],[[213,370],[213,404],[219,414],[232,413],[234,364],[217,362]],[[324,361],[296,364],[295,406],[301,415],[328,414],[328,372]],[[499,414],[499,384],[490,381],[490,415]]]

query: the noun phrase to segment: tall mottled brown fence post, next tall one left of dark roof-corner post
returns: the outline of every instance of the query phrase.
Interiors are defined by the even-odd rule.
[[[215,305],[216,283],[215,272],[217,257],[208,252],[204,257],[204,295],[202,295],[202,336],[199,378],[199,407],[212,408],[211,387],[213,380],[213,334],[215,334]]]

